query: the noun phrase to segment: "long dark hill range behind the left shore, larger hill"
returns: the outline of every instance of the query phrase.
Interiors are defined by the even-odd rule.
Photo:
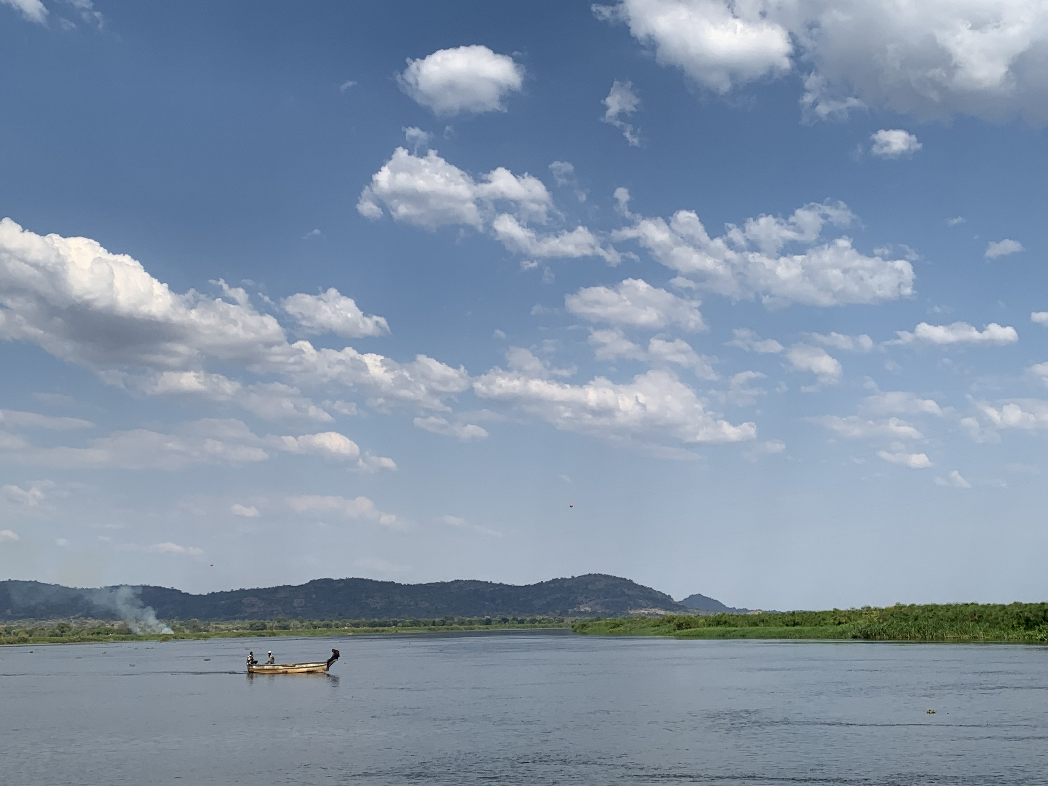
[[[208,621],[276,616],[306,619],[620,616],[682,613],[686,609],[662,592],[602,573],[523,586],[475,581],[397,584],[371,578],[318,578],[294,586],[204,595],[167,587],[77,589],[40,582],[0,582],[0,619],[145,618],[150,611],[160,619]]]

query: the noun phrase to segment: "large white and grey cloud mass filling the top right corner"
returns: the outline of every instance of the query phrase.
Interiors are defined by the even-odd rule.
[[[795,73],[816,119],[874,107],[922,121],[1048,121],[1048,7],[1038,0],[621,0],[595,10],[716,92]]]

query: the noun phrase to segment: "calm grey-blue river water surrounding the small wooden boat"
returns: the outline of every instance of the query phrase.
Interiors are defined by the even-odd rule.
[[[246,676],[269,647],[342,660]],[[531,631],[0,647],[0,782],[1048,784],[1048,648]]]

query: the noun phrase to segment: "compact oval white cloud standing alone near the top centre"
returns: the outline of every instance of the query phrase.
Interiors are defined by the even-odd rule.
[[[397,81],[401,90],[437,115],[504,112],[505,97],[524,86],[524,67],[507,54],[474,44],[439,49],[420,60],[409,58]]]

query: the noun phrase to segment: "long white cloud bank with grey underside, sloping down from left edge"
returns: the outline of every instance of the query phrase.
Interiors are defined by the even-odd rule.
[[[510,179],[521,190],[528,188],[508,173],[492,174],[486,184],[503,193],[516,188]],[[379,409],[446,409],[446,397],[468,388],[463,369],[425,355],[401,364],[352,347],[289,344],[277,320],[256,310],[242,288],[215,283],[223,297],[194,290],[179,294],[137,260],[112,254],[94,240],[41,236],[10,219],[0,220],[0,339],[31,342],[60,359],[111,369],[106,378],[114,384],[129,381],[123,371],[128,367],[202,372],[201,366],[213,362],[303,385],[358,389]],[[216,395],[233,395],[221,392],[226,384],[217,375],[195,381],[167,377],[162,384],[198,385]],[[324,419],[319,412],[310,416]]]

